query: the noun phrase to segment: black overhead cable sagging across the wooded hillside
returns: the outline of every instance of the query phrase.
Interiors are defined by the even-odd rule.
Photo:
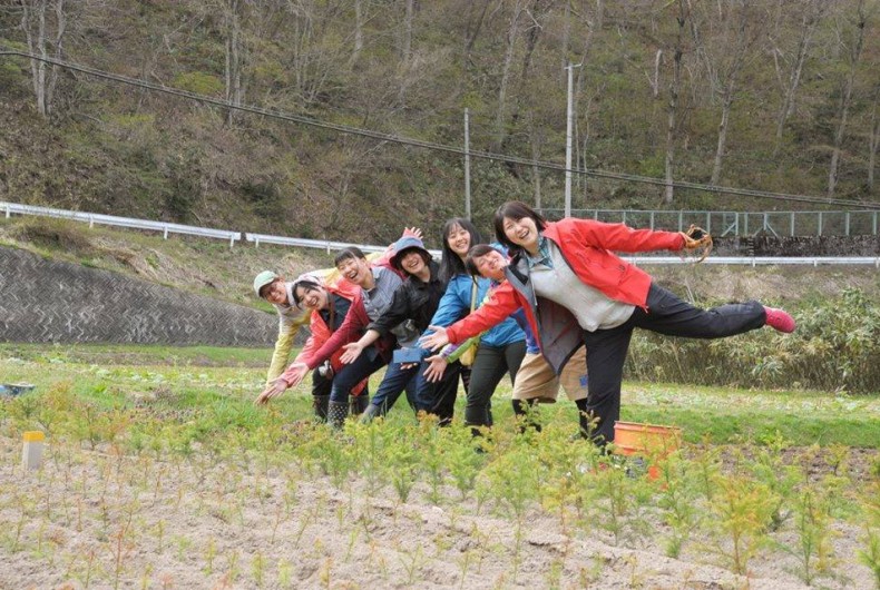
[[[89,76],[95,76],[96,78],[104,78],[106,80],[113,80],[116,82],[126,83],[129,86],[136,86],[138,88],[144,88],[147,90],[153,90],[156,92],[164,92],[166,95],[172,95],[176,97],[186,98],[189,100],[196,100],[198,102],[204,102],[208,105],[214,105],[216,107],[228,108],[234,110],[239,110],[243,112],[251,112],[254,115],[262,115],[264,117],[270,117],[273,119],[286,120],[292,122],[297,122],[301,125],[307,125],[311,127],[317,127],[321,129],[327,129],[332,131],[338,131],[341,134],[348,135],[356,135],[361,137],[369,137],[371,139],[378,139],[380,141],[388,141],[392,144],[401,144],[404,146],[412,146],[419,147],[424,149],[432,149],[436,151],[443,151],[447,154],[454,154],[458,156],[465,156],[466,151],[463,148],[457,146],[448,146],[444,144],[437,144],[433,141],[424,141],[421,139],[413,139],[409,137],[400,137],[391,134],[384,134],[381,131],[374,131],[372,129],[362,129],[359,127],[352,127],[349,125],[340,125],[334,124],[331,121],[324,121],[320,119],[314,119],[312,117],[305,117],[302,115],[293,115],[290,112],[284,112],[274,109],[266,109],[263,107],[255,107],[251,105],[235,105],[229,102],[228,100],[223,100],[218,98],[212,98],[209,96],[199,95],[196,92],[189,92],[187,90],[178,90],[176,88],[170,88],[164,85],[151,83],[145,80],[139,80],[137,78],[129,78],[127,76],[120,76],[118,73],[110,73],[107,71],[98,70],[88,66],[81,66],[79,63],[71,63],[68,61],[63,61],[60,59],[55,59],[50,57],[42,57],[37,56],[33,53],[28,53],[26,51],[14,51],[9,50],[6,48],[0,48],[0,56],[16,56],[22,57],[27,59],[36,59],[38,61],[43,61],[46,63],[51,63],[53,66],[58,66],[60,68],[66,68],[74,71],[79,71],[82,73],[87,73]],[[646,184],[646,185],[655,185],[655,186],[669,186],[672,184],[675,188],[687,188],[692,190],[704,190],[707,193],[717,193],[717,194],[725,194],[725,195],[739,195],[745,197],[756,197],[756,198],[767,198],[774,200],[786,200],[786,201],[799,201],[799,203],[811,203],[814,205],[839,205],[843,207],[863,207],[866,209],[880,209],[880,203],[872,203],[866,200],[847,200],[847,199],[832,199],[832,198],[822,198],[822,197],[810,197],[806,195],[792,195],[786,193],[771,193],[765,190],[754,190],[750,188],[734,188],[734,187],[724,187],[724,186],[714,186],[714,185],[704,185],[700,183],[688,183],[683,180],[674,180],[673,183],[667,183],[663,178],[654,178],[651,176],[639,176],[633,174],[624,174],[624,173],[612,173],[607,170],[597,170],[597,169],[588,169],[588,168],[566,168],[565,165],[555,164],[551,161],[542,161],[542,160],[531,160],[527,158],[520,158],[517,156],[507,156],[503,154],[493,154],[491,151],[481,151],[481,150],[469,150],[473,158],[481,158],[490,161],[500,161],[506,164],[518,164],[521,166],[528,167],[537,167],[542,168],[546,170],[554,170],[554,171],[561,171],[567,173],[570,171],[573,174],[578,174],[581,176],[587,176],[591,178],[603,178],[608,180],[620,180],[626,183],[638,183],[638,184]]]

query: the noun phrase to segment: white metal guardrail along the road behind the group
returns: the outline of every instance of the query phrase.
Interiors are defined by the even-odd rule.
[[[169,224],[165,222],[150,222],[147,219],[133,219],[128,217],[117,217],[114,215],[101,215],[96,213],[81,213],[69,212],[65,209],[52,209],[49,207],[37,207],[33,205],[18,205],[16,203],[0,201],[0,210],[6,212],[6,217],[9,218],[11,214],[17,215],[39,215],[46,217],[59,217],[63,219],[72,219],[77,222],[88,223],[89,227],[95,224],[110,225],[117,227],[130,227],[135,229],[150,229],[162,232],[163,237],[168,239],[168,234],[187,234],[192,236],[211,237],[219,239],[228,239],[229,247],[235,245],[237,240],[246,240],[258,247],[260,244],[273,244],[278,246],[292,246],[297,248],[316,248],[323,249],[327,253],[345,248],[348,246],[356,246],[363,252],[384,252],[388,246],[373,246],[370,244],[352,244],[350,242],[332,242],[327,239],[307,239],[285,236],[273,236],[268,234],[251,234],[241,232],[231,232],[226,229],[211,229],[207,227],[196,227],[192,225]],[[626,212],[622,212],[626,213]],[[639,212],[629,212],[639,213]],[[648,213],[648,212],[641,212]],[[671,212],[666,212],[671,213]],[[676,212],[672,212],[676,213]],[[686,212],[683,212],[686,213]],[[874,213],[874,212],[870,212]],[[684,222],[683,217],[683,222]],[[440,257],[440,250],[428,250],[432,256]],[[679,256],[625,256],[624,259],[635,265],[646,264],[691,264],[687,258]],[[749,266],[765,266],[765,265],[867,265],[880,268],[880,257],[871,256],[804,256],[804,257],[789,257],[789,258],[774,258],[770,256],[727,256],[727,257],[708,257],[703,264],[731,264],[731,265],[749,265]]]

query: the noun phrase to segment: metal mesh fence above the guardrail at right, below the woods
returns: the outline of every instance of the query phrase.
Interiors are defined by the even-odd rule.
[[[548,219],[559,219],[564,209],[541,209]],[[573,209],[574,217],[624,223],[651,229],[686,229],[698,225],[714,236],[876,236],[880,212],[695,212]]]

